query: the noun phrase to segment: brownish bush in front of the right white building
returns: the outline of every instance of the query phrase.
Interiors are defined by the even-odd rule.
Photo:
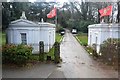
[[[118,64],[119,45],[120,39],[107,39],[101,44],[100,53],[103,62],[112,65]]]

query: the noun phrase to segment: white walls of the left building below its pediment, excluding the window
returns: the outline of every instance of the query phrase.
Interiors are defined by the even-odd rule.
[[[15,24],[20,24],[15,23]],[[26,23],[24,23],[27,25]],[[21,34],[26,33],[27,44],[34,48],[33,53],[38,53],[39,42],[44,41],[44,51],[48,52],[55,42],[55,27],[51,26],[17,26],[10,25],[7,29],[8,43],[21,44]],[[50,46],[51,45],[51,46]]]

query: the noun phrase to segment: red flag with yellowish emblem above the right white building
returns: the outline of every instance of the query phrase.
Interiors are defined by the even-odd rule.
[[[100,17],[109,16],[111,15],[112,12],[112,6],[108,6],[106,8],[100,9],[99,12],[101,14]]]

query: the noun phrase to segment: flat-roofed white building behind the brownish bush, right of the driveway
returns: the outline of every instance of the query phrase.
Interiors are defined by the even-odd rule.
[[[97,53],[100,51],[100,44],[108,38],[120,38],[119,24],[93,24],[88,26],[88,45],[96,44]]]

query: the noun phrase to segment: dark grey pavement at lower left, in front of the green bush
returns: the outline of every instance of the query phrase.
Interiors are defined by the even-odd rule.
[[[37,63],[30,67],[3,67],[3,78],[48,78],[56,69],[54,64]]]

